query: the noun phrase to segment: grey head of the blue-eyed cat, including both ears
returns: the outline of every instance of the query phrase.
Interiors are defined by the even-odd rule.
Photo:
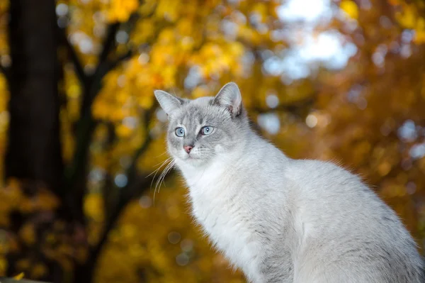
[[[155,96],[168,115],[167,147],[177,162],[204,165],[231,155],[245,140],[249,123],[237,84],[194,100],[161,90]]]

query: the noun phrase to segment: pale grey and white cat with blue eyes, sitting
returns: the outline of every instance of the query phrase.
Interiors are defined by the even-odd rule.
[[[154,95],[194,218],[249,282],[425,282],[395,212],[355,174],[293,160],[251,130],[237,84],[194,100]]]

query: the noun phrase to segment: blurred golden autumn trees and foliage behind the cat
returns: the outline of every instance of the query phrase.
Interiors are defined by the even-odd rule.
[[[423,247],[424,44],[421,0],[0,0],[0,276],[245,282],[176,172],[156,187],[154,89],[229,81],[266,138],[360,174]]]

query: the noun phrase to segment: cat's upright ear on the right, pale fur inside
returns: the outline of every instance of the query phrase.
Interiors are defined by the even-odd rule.
[[[226,107],[232,117],[239,116],[242,112],[242,95],[239,87],[234,82],[225,84],[214,98],[213,104]]]

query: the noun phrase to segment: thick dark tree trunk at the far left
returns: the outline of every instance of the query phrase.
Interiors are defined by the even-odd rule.
[[[59,192],[63,165],[55,0],[13,0],[10,5],[6,177],[40,182]]]

